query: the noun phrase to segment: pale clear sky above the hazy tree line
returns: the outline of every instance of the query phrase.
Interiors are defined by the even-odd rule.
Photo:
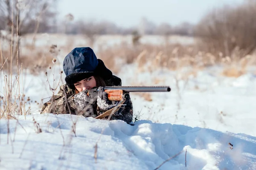
[[[142,17],[160,24],[197,23],[210,9],[242,0],[60,0],[59,17],[71,13],[75,20],[108,20],[118,26],[137,26]]]

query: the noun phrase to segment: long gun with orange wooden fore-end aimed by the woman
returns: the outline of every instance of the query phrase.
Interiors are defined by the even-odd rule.
[[[108,99],[112,101],[122,101],[126,99],[129,92],[169,92],[169,86],[106,86],[104,91],[108,94]],[[99,88],[92,88],[87,95],[96,99],[99,93]]]

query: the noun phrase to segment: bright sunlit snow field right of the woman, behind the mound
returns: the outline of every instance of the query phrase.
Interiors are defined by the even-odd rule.
[[[136,80],[137,85],[170,85],[172,88],[170,93],[152,93],[152,102],[133,96],[134,110],[141,111],[141,119],[256,136],[252,130],[256,113],[254,74],[224,77],[220,68],[212,68],[198,71],[196,76],[187,79],[179,78],[182,70],[155,70],[133,77],[134,69],[136,66],[124,68],[120,73],[120,77],[125,77],[122,79],[125,84]],[[156,80],[159,82],[155,83]]]

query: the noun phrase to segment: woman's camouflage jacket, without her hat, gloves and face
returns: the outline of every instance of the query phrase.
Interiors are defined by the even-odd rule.
[[[107,80],[107,86],[122,85],[121,79],[116,76],[112,76],[111,79]],[[41,108],[42,113],[53,113],[53,114],[76,114],[78,111],[76,108],[76,103],[73,100],[73,96],[76,95],[76,92],[69,88],[66,84],[61,85],[58,94],[53,95],[52,98],[45,102]],[[99,116],[102,114],[101,111],[97,109],[97,102],[93,105],[94,115],[92,117]],[[112,116],[111,120],[119,119],[125,122],[131,122],[133,116],[133,106],[130,97],[128,97],[125,102],[122,104],[122,107],[119,108]],[[86,116],[88,117],[88,116]],[[108,119],[106,116],[104,119]]]

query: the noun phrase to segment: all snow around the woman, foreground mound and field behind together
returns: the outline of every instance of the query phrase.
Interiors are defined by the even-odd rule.
[[[64,83],[61,70],[61,64],[47,69],[48,81],[44,72],[23,70],[20,89],[25,100],[31,99],[26,108],[32,114],[0,119],[1,170],[154,170],[169,158],[161,170],[256,170],[255,68],[233,78],[221,75],[220,66],[192,74],[193,68],[148,71],[136,63],[123,65],[116,74],[122,85],[172,88],[149,94],[151,100],[131,93],[134,114],[140,113],[134,126],[120,120],[39,114],[52,96],[49,85],[57,92]],[[1,96],[3,78],[1,73]]]

